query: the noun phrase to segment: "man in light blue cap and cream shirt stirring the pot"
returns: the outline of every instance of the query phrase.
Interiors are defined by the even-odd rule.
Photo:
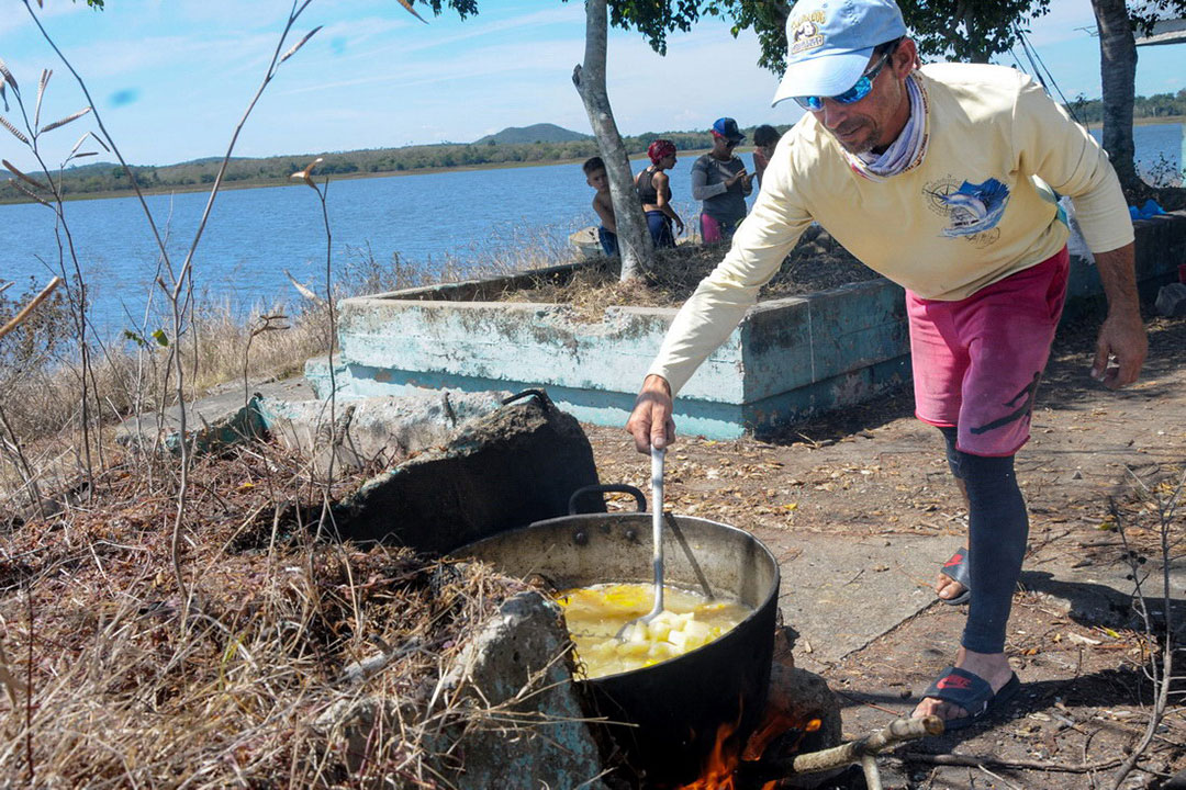
[[[967,546],[939,599],[969,603],[952,666],[914,715],[968,726],[1020,681],[1005,653],[1028,516],[1014,455],[1066,294],[1075,199],[1108,298],[1091,375],[1137,380],[1147,353],[1133,225],[1107,154],[1029,77],[984,64],[919,65],[892,0],[801,0],[774,103],[806,114],[783,137],[723,261],[684,303],[626,430],[639,451],[675,441],[672,398],[818,221],[906,290],[916,416],[942,431],[967,497]]]

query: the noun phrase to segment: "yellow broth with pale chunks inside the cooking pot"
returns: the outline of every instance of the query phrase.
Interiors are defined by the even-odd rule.
[[[642,617],[655,603],[651,584],[595,584],[565,590],[557,597],[568,632],[576,643],[585,677],[604,677],[650,667],[708,644],[750,616],[735,600],[707,598],[663,586],[664,609],[648,624],[635,624],[619,640],[618,630]]]

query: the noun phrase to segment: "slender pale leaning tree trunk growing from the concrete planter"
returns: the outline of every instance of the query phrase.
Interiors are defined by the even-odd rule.
[[[610,199],[618,225],[618,255],[621,256],[621,280],[642,276],[655,252],[650,231],[643,221],[643,204],[635,190],[626,146],[610,109],[605,89],[606,33],[610,27],[606,0],[585,0],[585,64],[573,69],[573,84],[585,103],[589,126],[610,176]]]

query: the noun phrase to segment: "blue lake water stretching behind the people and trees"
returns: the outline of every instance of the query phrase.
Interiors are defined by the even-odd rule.
[[[1134,137],[1137,160],[1149,165],[1163,156],[1181,168],[1180,124],[1135,127]],[[752,166],[748,153],[742,159]],[[689,224],[699,210],[690,200],[694,160],[681,156],[671,171],[675,207]],[[636,162],[635,171],[639,168]],[[592,197],[576,163],[331,181],[332,265],[337,277],[366,248],[380,262],[398,253],[404,263],[428,269],[514,259],[522,249],[542,249],[541,264],[559,262],[572,252],[568,235],[595,223]],[[147,199],[157,221],[168,229],[176,265],[206,199],[205,193]],[[100,330],[140,326],[157,276],[157,248],[136,199],[71,201],[65,214]],[[0,278],[18,282],[8,295],[30,276],[49,281],[57,250],[49,208],[0,206]],[[195,257],[197,288],[246,314],[299,298],[285,270],[306,284],[324,283],[325,232],[313,191],[291,186],[221,193]],[[159,294],[154,298],[159,302]]]

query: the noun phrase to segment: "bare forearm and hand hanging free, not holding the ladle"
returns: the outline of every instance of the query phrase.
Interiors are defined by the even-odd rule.
[[[1099,327],[1091,378],[1103,381],[1110,390],[1136,381],[1149,351],[1134,268],[1131,244],[1096,252],[1096,270],[1108,296],[1108,317]]]

